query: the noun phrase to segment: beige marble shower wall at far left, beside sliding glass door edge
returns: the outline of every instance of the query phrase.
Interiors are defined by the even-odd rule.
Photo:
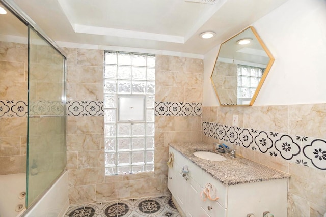
[[[27,44],[0,42],[0,175],[26,171],[27,63]]]

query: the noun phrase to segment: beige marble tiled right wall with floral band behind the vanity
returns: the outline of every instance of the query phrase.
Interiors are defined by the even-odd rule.
[[[238,127],[232,116],[239,115]],[[326,212],[326,104],[203,107],[203,141],[289,173],[288,216]]]

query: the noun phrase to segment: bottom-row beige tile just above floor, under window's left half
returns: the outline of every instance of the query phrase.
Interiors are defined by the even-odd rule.
[[[110,201],[130,196],[129,181],[103,183],[96,185],[97,201]]]

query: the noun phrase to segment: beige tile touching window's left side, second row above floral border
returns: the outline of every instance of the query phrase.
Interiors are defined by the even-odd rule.
[[[103,84],[103,67],[102,66],[69,66],[67,82]]]

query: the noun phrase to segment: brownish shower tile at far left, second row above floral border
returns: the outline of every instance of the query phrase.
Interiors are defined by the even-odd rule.
[[[25,81],[24,63],[0,61],[0,81]]]

